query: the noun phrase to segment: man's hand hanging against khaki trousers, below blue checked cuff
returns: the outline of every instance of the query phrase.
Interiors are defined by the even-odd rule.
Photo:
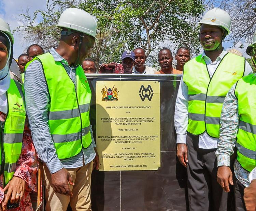
[[[56,193],[64,194],[72,197],[69,184],[74,185],[73,179],[66,168],[62,168],[59,171],[51,175],[52,187]]]

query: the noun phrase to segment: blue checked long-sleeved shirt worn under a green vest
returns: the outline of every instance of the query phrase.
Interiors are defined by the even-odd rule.
[[[76,67],[70,67],[68,62],[63,59],[54,48],[51,48],[49,52],[53,55],[56,62],[60,61],[62,63],[68,75],[74,84],[76,84]],[[93,142],[87,149],[83,148],[78,155],[71,158],[58,158],[48,127],[49,93],[47,91],[43,68],[38,60],[33,61],[27,67],[24,88],[34,146],[39,158],[46,164],[50,173],[53,174],[62,168],[78,168],[91,162],[96,155],[94,151],[96,145],[91,129],[91,139]]]

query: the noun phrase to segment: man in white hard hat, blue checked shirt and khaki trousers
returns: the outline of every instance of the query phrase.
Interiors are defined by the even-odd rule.
[[[27,111],[35,148],[43,161],[46,210],[91,210],[91,171],[99,158],[89,121],[91,90],[80,66],[96,39],[96,21],[70,8],[57,24],[57,48],[25,67]]]

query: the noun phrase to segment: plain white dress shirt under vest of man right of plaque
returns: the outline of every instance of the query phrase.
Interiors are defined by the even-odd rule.
[[[216,61],[212,62],[211,59],[205,55],[204,51],[202,53],[202,59],[204,59],[207,64],[207,68],[212,78],[215,70],[217,69],[219,63],[222,61],[223,57],[228,52],[223,49],[222,53],[217,57]],[[245,71],[244,76],[252,74],[252,68],[250,64],[245,61]],[[187,126],[188,126],[188,87],[181,77],[181,82],[176,98],[175,104],[175,114],[174,114],[174,126],[177,133],[177,144],[186,144],[187,136]],[[217,148],[218,139],[210,137],[206,132],[199,135],[198,146],[202,149],[214,149]]]

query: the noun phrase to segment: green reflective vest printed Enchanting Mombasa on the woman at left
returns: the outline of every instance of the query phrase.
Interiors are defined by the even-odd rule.
[[[1,173],[7,184],[16,171],[16,164],[22,149],[22,138],[26,119],[24,90],[20,83],[11,79],[6,92],[8,112],[4,122],[1,122]]]

